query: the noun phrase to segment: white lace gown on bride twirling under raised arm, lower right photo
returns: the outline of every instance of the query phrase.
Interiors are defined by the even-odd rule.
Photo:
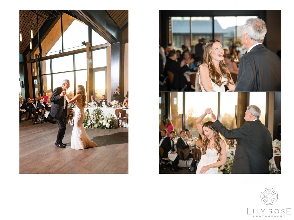
[[[197,166],[196,174],[200,174],[201,168],[208,164],[214,164],[218,161],[218,151],[215,148],[207,149],[206,154],[201,155],[201,160]],[[205,174],[218,174],[218,168],[210,168]]]

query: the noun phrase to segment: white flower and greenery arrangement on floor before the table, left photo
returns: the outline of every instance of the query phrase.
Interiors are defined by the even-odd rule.
[[[95,108],[91,114],[89,109],[86,109],[83,126],[87,129],[115,129],[114,120],[114,115],[109,113],[104,116],[100,108]]]

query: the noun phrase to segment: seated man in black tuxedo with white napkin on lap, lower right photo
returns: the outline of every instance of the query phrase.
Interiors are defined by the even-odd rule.
[[[162,144],[160,145],[163,148],[163,158],[170,158],[173,160],[173,155],[176,154],[173,138],[176,136],[176,131],[171,131],[169,137],[163,139]],[[176,158],[173,160],[170,170],[174,172],[178,172],[178,163],[179,163],[179,156],[177,155]]]

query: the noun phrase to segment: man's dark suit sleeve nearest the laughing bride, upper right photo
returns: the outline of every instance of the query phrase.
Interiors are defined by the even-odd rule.
[[[244,56],[240,59],[239,74],[235,91],[256,91],[257,88],[255,85],[255,71],[252,64]]]

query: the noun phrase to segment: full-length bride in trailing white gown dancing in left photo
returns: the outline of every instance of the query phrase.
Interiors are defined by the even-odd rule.
[[[69,99],[64,91],[66,101],[68,103],[76,102],[76,110],[74,116],[74,128],[71,134],[71,148],[72,149],[86,149],[87,147],[97,147],[97,144],[91,141],[88,137],[86,130],[83,126],[85,118],[84,107],[86,105],[86,95],[84,86],[77,86],[76,95],[74,98]]]

